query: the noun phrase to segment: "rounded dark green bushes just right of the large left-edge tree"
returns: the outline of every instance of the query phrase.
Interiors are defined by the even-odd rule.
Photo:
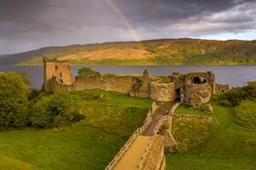
[[[51,98],[42,98],[32,107],[31,122],[32,126],[43,127],[61,127],[73,122],[79,122],[85,116],[80,115],[78,111],[72,108],[73,98],[70,94],[53,94]]]

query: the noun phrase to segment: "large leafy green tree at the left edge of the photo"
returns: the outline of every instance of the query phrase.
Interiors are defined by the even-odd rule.
[[[28,87],[18,73],[0,72],[0,129],[27,123]]]

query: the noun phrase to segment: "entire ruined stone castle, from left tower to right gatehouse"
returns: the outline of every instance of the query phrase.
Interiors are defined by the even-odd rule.
[[[147,70],[143,77],[117,76],[104,79],[100,74],[96,76],[75,77],[68,61],[48,59],[44,61],[44,90],[50,92],[76,91],[99,88],[107,91],[129,94],[132,97],[150,98],[159,101],[183,100],[191,108],[199,108],[208,102],[212,94],[229,90],[229,85],[216,83],[212,72],[190,72],[185,75],[172,73],[166,77],[168,82],[150,78]]]

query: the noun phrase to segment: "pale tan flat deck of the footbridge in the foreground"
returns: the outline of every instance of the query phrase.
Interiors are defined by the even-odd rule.
[[[119,161],[114,170],[131,170],[137,169],[151,138],[148,136],[137,136],[137,139],[131,144],[125,156]]]

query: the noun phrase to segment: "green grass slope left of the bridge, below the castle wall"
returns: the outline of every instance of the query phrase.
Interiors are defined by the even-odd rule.
[[[0,132],[0,169],[103,169],[143,124],[151,104],[102,90],[71,94],[84,121],[59,129]],[[104,97],[90,99],[91,94]]]

